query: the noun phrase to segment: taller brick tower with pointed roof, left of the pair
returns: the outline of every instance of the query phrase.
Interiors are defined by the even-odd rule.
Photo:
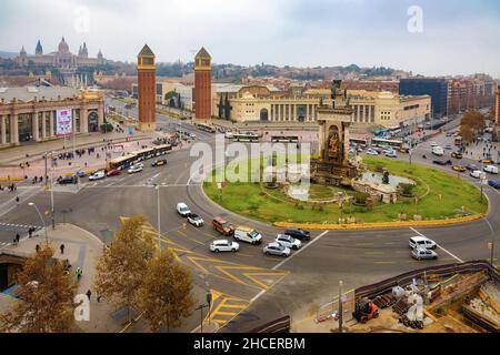
[[[142,132],[151,132],[157,129],[157,67],[154,58],[154,53],[148,44],[138,55],[139,130]]]

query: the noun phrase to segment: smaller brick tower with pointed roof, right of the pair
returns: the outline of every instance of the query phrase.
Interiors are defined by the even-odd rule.
[[[194,57],[196,123],[210,123],[212,116],[212,58],[204,48]]]

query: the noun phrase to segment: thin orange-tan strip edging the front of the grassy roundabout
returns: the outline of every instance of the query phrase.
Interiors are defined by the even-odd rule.
[[[352,223],[352,224],[276,222],[274,226],[283,229],[299,227],[303,230],[320,230],[320,231],[392,230],[406,227],[456,225],[470,223],[473,221],[481,220],[483,217],[484,217],[483,214],[472,214],[463,217],[447,219],[447,220],[397,221],[397,222],[373,222],[373,223]]]

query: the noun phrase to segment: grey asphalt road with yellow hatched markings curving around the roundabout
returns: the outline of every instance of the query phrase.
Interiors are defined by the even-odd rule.
[[[133,110],[130,113],[133,115]],[[177,124],[177,121],[166,116],[159,116],[159,122],[166,126]],[[194,132],[200,141],[213,143],[212,134],[198,131],[186,122],[181,125]],[[423,154],[428,155],[428,160],[421,158]],[[349,290],[429,265],[489,258],[487,243],[492,237],[490,225],[494,230],[500,225],[500,214],[496,213],[500,193],[486,186],[492,212],[487,220],[467,225],[421,230],[318,231],[312,233],[311,242],[287,260],[264,256],[261,247],[246,244],[241,244],[238,253],[214,255],[208,250],[213,239],[221,237],[210,224],[214,215],[223,214],[237,225],[256,227],[266,242],[272,241],[282,231],[237,216],[209,201],[201,186],[191,182],[190,166],[194,159],[189,156],[189,150],[177,151],[168,156],[167,166],[150,168],[148,162],[144,171],[136,175],[123,174],[99,182],[86,182],[79,191],[57,192],[56,217],[58,222],[64,217],[67,222],[106,239],[120,226],[120,217],[143,214],[151,224],[148,230],[156,235],[154,185],[160,185],[161,243],[192,267],[198,291],[212,290],[212,320],[223,326],[223,332],[244,332],[283,315],[300,317],[316,311],[338,293],[339,280]],[[408,155],[400,159],[408,160]],[[412,160],[414,163],[431,164],[430,146],[417,149]],[[449,168],[447,170],[450,171]],[[464,179],[469,178],[464,175]],[[12,225],[41,226],[40,217],[33,207],[28,206],[28,202],[34,202],[41,211],[50,209],[50,195],[40,187],[21,184],[18,192],[21,195],[19,206],[14,201],[0,200],[0,247],[2,243],[12,241]],[[207,224],[201,229],[184,226],[186,220],[176,212],[179,202],[186,202]],[[439,243],[438,261],[416,262],[411,258],[408,239],[420,234]],[[496,257],[499,255],[500,248],[497,247]],[[192,322],[188,326],[194,327]]]

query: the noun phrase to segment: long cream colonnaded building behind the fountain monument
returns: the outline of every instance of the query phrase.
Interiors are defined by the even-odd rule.
[[[398,128],[422,122],[430,116],[429,95],[403,97],[392,92],[348,90],[352,106],[351,123]],[[310,122],[318,108],[331,100],[328,89],[306,90],[299,94],[263,85],[216,85],[212,115],[236,122]]]

